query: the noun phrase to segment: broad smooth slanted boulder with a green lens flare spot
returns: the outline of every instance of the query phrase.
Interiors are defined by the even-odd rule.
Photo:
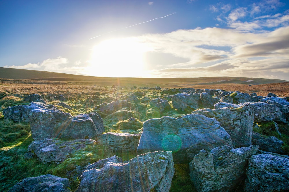
[[[201,149],[223,145],[233,146],[229,134],[216,119],[199,114],[164,116],[144,122],[137,153],[173,151],[175,163],[188,163]]]

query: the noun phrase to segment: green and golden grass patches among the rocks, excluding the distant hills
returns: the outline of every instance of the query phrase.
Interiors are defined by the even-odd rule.
[[[29,82],[29,80],[26,81]],[[131,128],[134,126],[134,131],[131,131],[130,133],[141,132],[141,124],[149,118],[158,118],[164,115],[171,117],[179,117],[183,115],[173,108],[160,114],[157,109],[150,107],[148,102],[141,102],[143,96],[148,96],[151,99],[163,97],[164,95],[162,95],[158,90],[132,89],[126,87],[111,88],[111,85],[100,87],[96,85],[72,84],[71,82],[65,83],[64,81],[51,83],[51,81],[41,80],[42,84],[28,84],[24,82],[25,81],[22,82],[23,84],[18,84],[14,81],[0,82],[0,191],[7,191],[15,185],[16,182],[25,177],[39,176],[48,173],[68,178],[71,182],[71,189],[74,191],[79,183],[79,178],[70,177],[70,174],[77,168],[94,163],[99,159],[111,157],[112,155],[117,155],[123,158],[123,160],[129,160],[136,156],[131,153],[114,153],[107,146],[96,145],[94,147],[88,146],[84,150],[78,151],[58,165],[55,163],[43,164],[38,161],[37,158],[32,158],[27,161],[27,159],[25,159],[25,153],[27,152],[28,145],[33,141],[30,126],[27,123],[15,123],[13,121],[4,120],[2,111],[10,106],[29,104],[23,101],[23,98],[30,94],[38,93],[48,104],[53,104],[58,109],[71,113],[72,115],[78,115],[80,113],[98,112],[97,109],[95,109],[95,106],[104,102],[109,103],[113,100],[121,99],[127,94],[134,94],[137,92],[140,102],[135,104],[135,107],[131,109],[132,117],[136,119],[136,122],[131,125]],[[252,86],[248,86],[248,84],[177,86],[212,89],[221,88],[225,90],[239,90],[248,93],[256,92],[258,95],[266,95],[268,92],[274,92],[280,96],[289,96],[289,83],[283,85],[285,86],[279,87],[278,83],[274,83],[274,85]],[[266,86],[268,89],[271,89],[271,86],[275,87],[268,91]],[[284,89],[287,89],[287,91]],[[72,109],[67,109],[57,105],[60,101],[55,99],[54,96],[59,96],[60,94],[64,95],[66,98],[65,103]],[[171,104],[171,102],[169,103]],[[106,132],[122,132],[123,130],[131,129],[125,126],[127,123],[126,118],[113,119],[110,115],[104,115],[102,117]],[[254,131],[268,136],[276,136],[280,140],[283,140],[286,154],[289,155],[288,124],[278,124],[281,136],[272,126],[273,125],[270,122],[263,124],[260,123],[258,124],[258,128],[254,128]],[[175,165],[175,175],[173,177],[170,191],[195,191],[190,182],[188,165]]]

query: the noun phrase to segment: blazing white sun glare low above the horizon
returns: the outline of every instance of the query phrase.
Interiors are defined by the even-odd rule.
[[[98,77],[142,77],[147,51],[149,47],[136,37],[102,41],[92,49],[89,73]]]

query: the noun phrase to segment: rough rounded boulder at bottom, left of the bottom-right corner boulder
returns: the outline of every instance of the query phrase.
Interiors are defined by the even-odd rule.
[[[189,164],[190,177],[199,192],[231,191],[246,176],[248,159],[258,147],[216,147],[201,150]]]

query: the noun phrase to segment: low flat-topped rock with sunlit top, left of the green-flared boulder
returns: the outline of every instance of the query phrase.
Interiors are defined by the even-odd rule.
[[[138,148],[140,134],[108,132],[97,136],[99,144],[108,146],[112,151],[135,151]]]

